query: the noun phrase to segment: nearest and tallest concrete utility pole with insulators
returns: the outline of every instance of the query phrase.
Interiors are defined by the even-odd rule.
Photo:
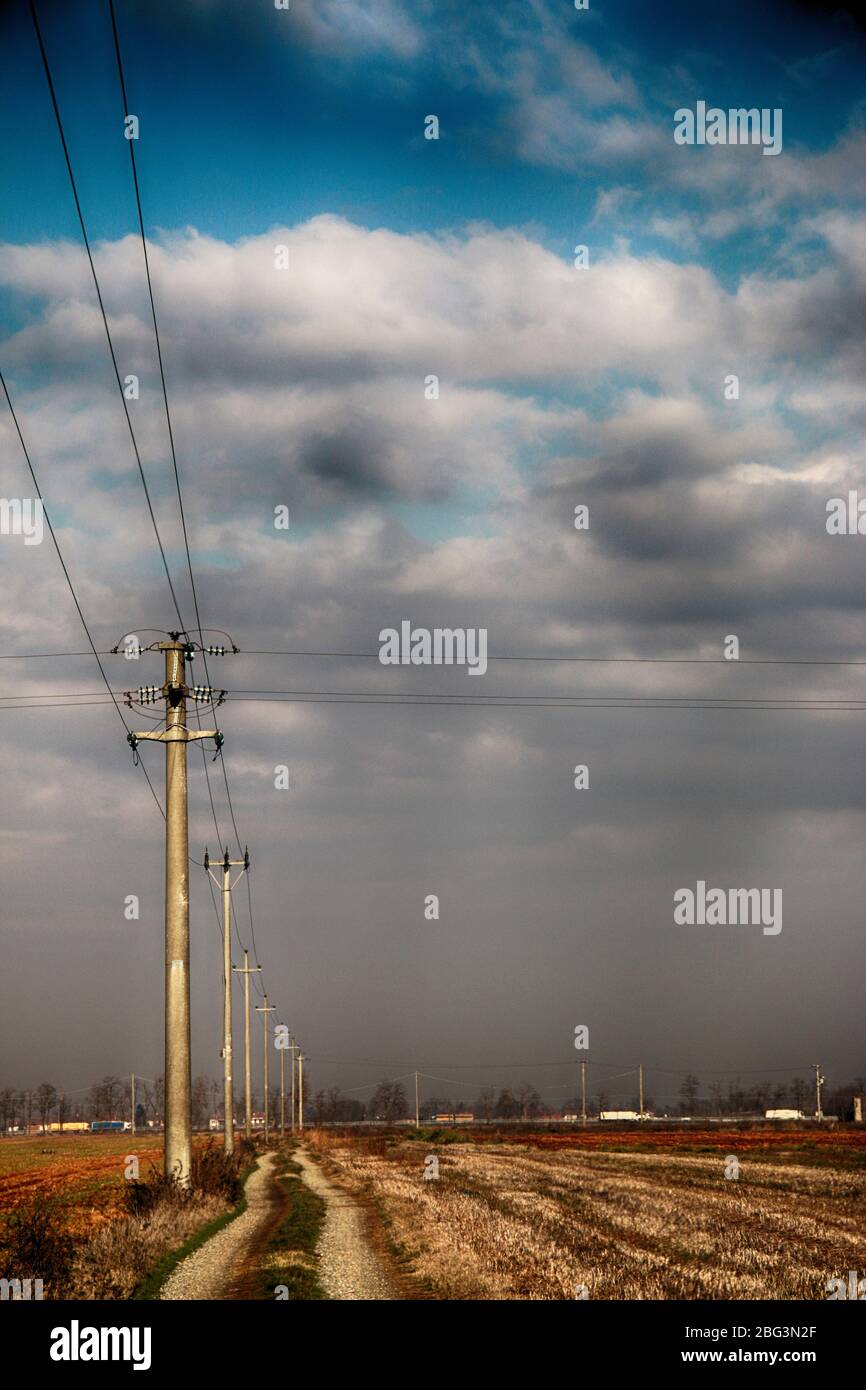
[[[128,734],[136,753],[140,742],[165,744],[165,1158],[167,1177],[189,1187],[192,1170],[192,1077],[189,1048],[189,817],[186,803],[186,745],[213,738],[217,751],[222,734],[215,728],[186,727],[186,699],[218,703],[222,694],[210,687],[186,685],[186,660],[196,646],[170,632],[168,642],[153,648],[165,653],[164,685],[140,685],[126,692],[126,703],[156,705],[165,701],[165,728]],[[114,648],[118,651],[118,646]],[[136,655],[140,653],[140,648]],[[224,648],[204,648],[221,655]]]

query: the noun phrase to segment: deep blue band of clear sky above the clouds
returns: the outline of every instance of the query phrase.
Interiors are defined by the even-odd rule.
[[[288,14],[245,7],[240,22],[225,4],[193,6],[179,21],[171,7],[118,8],[131,106],[145,124],[139,157],[153,227],[193,224],[235,239],[321,211],[400,231],[485,220],[535,224],[564,254],[598,193],[619,179],[649,193],[656,211],[681,206],[639,152],[619,165],[591,158],[578,168],[575,146],[569,178],[541,158],[514,158],[505,83],[481,81],[463,50],[475,46],[485,64],[507,64],[514,43],[502,32],[506,17],[523,11],[531,39],[541,33],[532,7],[478,6],[456,21],[466,7],[421,6],[416,17],[430,18],[417,47],[396,53],[341,46],[336,21],[334,43],[311,42],[296,22],[309,8],[300,3]],[[595,104],[598,120],[628,118],[639,106],[667,133],[671,101],[781,106],[787,147],[822,152],[862,118],[863,53],[844,22],[819,28],[784,4],[744,6],[741,14],[723,7],[714,19],[692,4],[666,6],[662,15],[657,8],[619,3],[577,13],[564,0],[545,7],[563,43],[585,44],[634,83],[632,101]],[[31,21],[22,4],[8,11],[0,172],[18,196],[4,202],[3,235],[74,235]],[[88,220],[95,236],[117,236],[133,224],[106,6],[44,4],[42,18]],[[580,106],[580,92],[570,96]],[[441,120],[438,145],[420,138],[428,110]],[[562,139],[567,146],[567,129]],[[635,245],[651,243],[638,229],[632,235]],[[748,242],[716,247],[721,264],[742,265],[748,254]]]

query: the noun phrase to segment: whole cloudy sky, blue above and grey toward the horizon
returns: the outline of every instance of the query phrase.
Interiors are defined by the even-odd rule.
[[[38,13],[192,630],[108,7]],[[107,651],[172,607],[29,11],[0,15],[0,370]],[[866,660],[866,539],[826,524],[866,498],[853,7],[117,0],[117,21],[202,623],[240,648],[214,684],[524,698],[220,710],[253,860],[235,956],[313,1086],[363,1099],[418,1069],[427,1094],[557,1104],[588,1056],[623,1104],[644,1062],[662,1106],[685,1072],[863,1074],[862,712],[694,708],[862,698],[831,663]],[[699,101],[781,113],[780,153],[678,145]],[[3,407],[0,496],[26,499]],[[110,705],[32,708],[104,694],[95,660],[8,659],[86,649],[49,535],[0,535],[0,1088],[83,1094],[163,1070],[163,823]],[[534,660],[382,666],[405,620]],[[154,653],[106,664],[118,691],[161,680]],[[161,796],[161,751],[140,756]],[[215,840],[193,749],[190,853]],[[215,1077],[192,874],[193,1070]],[[678,924],[698,881],[781,890],[781,931]]]

